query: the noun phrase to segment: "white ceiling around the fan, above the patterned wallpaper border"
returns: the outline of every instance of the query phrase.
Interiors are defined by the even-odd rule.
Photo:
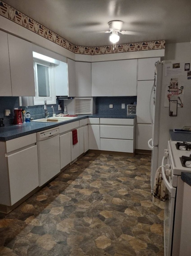
[[[122,20],[119,44],[190,42],[191,0],[4,0],[75,45],[110,45],[110,20]]]

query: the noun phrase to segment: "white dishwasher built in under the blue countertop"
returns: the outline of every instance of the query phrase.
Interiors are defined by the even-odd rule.
[[[60,172],[59,127],[36,133],[39,186]]]

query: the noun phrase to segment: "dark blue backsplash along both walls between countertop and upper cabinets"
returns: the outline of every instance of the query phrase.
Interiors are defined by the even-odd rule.
[[[127,114],[127,104],[133,104],[137,101],[136,96],[131,97],[96,97],[96,113],[98,114]],[[61,111],[58,111],[58,104],[61,103]],[[121,109],[121,104],[125,104],[125,109]],[[109,105],[113,104],[113,108],[110,109]],[[56,104],[47,105],[47,111],[50,113],[50,116],[53,115],[53,109],[56,114],[63,112],[64,103],[61,100],[56,100]],[[4,118],[4,125],[13,124],[14,120],[14,108],[22,108],[25,109],[25,106],[19,106],[19,97],[0,97],[0,118]],[[5,116],[5,109],[10,109],[11,115]],[[29,106],[28,107],[30,116],[34,119],[43,118],[44,117],[44,105],[37,106]]]

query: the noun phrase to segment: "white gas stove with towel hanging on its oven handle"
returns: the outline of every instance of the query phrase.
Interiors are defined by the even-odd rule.
[[[187,237],[185,240],[183,239],[184,230],[181,229],[181,225],[184,223],[184,218],[182,218],[184,182],[181,180],[181,172],[191,173],[191,168],[185,167],[191,167],[191,161],[186,162],[186,165],[184,165],[184,163],[182,164],[181,162],[181,157],[190,156],[191,144],[189,145],[190,150],[188,151],[177,149],[176,144],[177,141],[168,141],[168,149],[165,150],[162,159],[162,177],[168,191],[164,210],[165,256],[185,255],[182,254],[185,247],[187,247],[188,251],[191,251],[191,244],[187,243],[187,241],[191,240],[191,233],[189,232],[190,237]],[[186,225],[183,225],[183,227],[185,226]]]

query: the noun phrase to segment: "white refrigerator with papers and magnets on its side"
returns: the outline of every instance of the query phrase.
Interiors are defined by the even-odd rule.
[[[167,68],[169,63],[171,63],[171,61],[157,61],[155,64],[154,84],[150,96],[152,138],[148,141],[148,145],[152,149],[151,192],[153,192],[156,170],[161,165],[164,149],[167,148],[167,141],[170,140],[169,130],[182,129],[184,126],[190,126],[191,124],[191,80],[187,79],[187,71],[184,70],[182,70],[181,75],[177,75],[172,71],[172,75],[167,76],[167,70],[165,70],[165,68]],[[178,61],[173,61],[172,64],[173,63],[178,63]],[[184,66],[185,63],[181,63],[181,67]],[[183,107],[178,107],[177,116],[170,116],[169,107],[164,106],[165,98],[167,98],[166,88],[170,85],[171,78],[178,79],[179,85],[184,86]]]

